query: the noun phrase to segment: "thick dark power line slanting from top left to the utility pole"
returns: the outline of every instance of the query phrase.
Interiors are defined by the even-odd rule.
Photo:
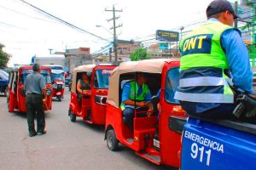
[[[74,29],[76,29],[76,30],[78,30],[78,31],[86,32],[86,33],[90,34],[91,36],[98,37],[98,38],[100,38],[100,39],[102,39],[102,40],[104,40],[104,41],[109,42],[107,39],[105,39],[105,38],[103,38],[103,37],[99,37],[99,36],[97,36],[96,34],[91,33],[90,31],[86,31],[86,30],[80,28],[79,26],[74,26],[73,24],[67,22],[66,20],[61,20],[60,18],[56,17],[55,15],[49,14],[48,12],[44,11],[44,10],[41,9],[41,8],[38,8],[38,7],[34,6],[34,5],[32,5],[31,3],[27,3],[27,2],[24,1],[24,0],[20,0],[20,2],[26,3],[26,5],[28,5],[28,6],[32,7],[32,8],[34,8],[34,9],[36,9],[37,11],[39,11],[40,14],[43,13],[44,15],[47,15],[47,16],[51,17],[52,19],[61,22],[61,24],[64,24],[64,25],[66,25],[66,26],[70,26],[70,27],[72,27],[72,28],[74,28]]]

